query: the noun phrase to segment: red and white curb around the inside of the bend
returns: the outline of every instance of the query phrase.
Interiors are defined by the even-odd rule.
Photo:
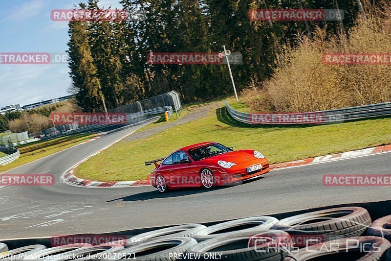
[[[104,149],[106,149],[106,148],[103,148],[102,150],[98,151],[97,153],[89,156],[87,159],[98,154],[99,152],[103,151]],[[379,153],[386,153],[386,152],[391,152],[391,144],[379,146],[379,147],[353,150],[353,151],[348,151],[348,152],[344,152],[344,153],[337,153],[337,154],[331,154],[331,155],[326,155],[326,156],[308,158],[308,159],[304,159],[304,160],[272,164],[272,165],[270,165],[270,170],[277,170],[277,169],[281,169],[281,168],[298,167],[298,166],[304,166],[304,165],[310,165],[310,164],[319,164],[319,163],[330,162],[330,161],[358,158],[358,157],[364,157],[364,156],[369,156],[369,155],[379,154]],[[77,164],[77,166],[79,166],[80,164],[85,162],[87,159],[85,159],[82,162],[80,162],[79,164]],[[64,175],[65,182],[73,184],[73,185],[79,185],[79,186],[91,187],[91,188],[128,188],[128,187],[151,186],[151,182],[149,180],[101,182],[101,181],[90,181],[90,180],[79,179],[78,177],[73,175],[73,170],[77,166],[73,166],[71,169],[69,169],[67,172],[65,172],[65,175]]]

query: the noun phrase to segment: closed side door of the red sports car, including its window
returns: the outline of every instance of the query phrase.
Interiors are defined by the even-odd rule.
[[[173,165],[170,170],[170,184],[177,187],[191,187],[195,185],[194,164],[184,151],[173,154]],[[185,161],[181,163],[180,161]]]

